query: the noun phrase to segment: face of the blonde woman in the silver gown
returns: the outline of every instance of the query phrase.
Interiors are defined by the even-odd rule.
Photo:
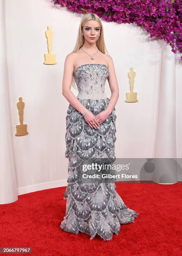
[[[83,35],[88,42],[96,42],[100,35],[100,24],[98,21],[88,20],[83,26]]]

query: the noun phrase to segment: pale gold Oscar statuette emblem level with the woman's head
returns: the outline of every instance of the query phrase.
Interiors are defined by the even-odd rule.
[[[44,64],[52,65],[52,64],[56,64],[55,54],[52,54],[53,32],[50,30],[50,26],[48,26],[47,29],[48,30],[45,32],[45,35],[47,37],[48,54],[44,54],[44,56],[45,56]]]

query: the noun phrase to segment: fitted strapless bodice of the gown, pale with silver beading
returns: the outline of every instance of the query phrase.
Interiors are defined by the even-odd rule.
[[[105,82],[109,75],[105,64],[83,64],[75,70],[75,82],[78,87],[77,98],[105,99]]]

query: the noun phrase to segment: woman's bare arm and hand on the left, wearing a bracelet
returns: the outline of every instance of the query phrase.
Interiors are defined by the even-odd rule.
[[[65,59],[65,65],[64,65],[64,74],[62,79],[62,95],[67,99],[67,101],[72,105],[73,108],[75,108],[77,111],[79,111],[82,115],[86,112],[87,108],[85,108],[82,103],[75,97],[75,95],[71,92],[71,85],[72,85],[72,76],[74,73],[74,59],[72,54],[68,54]],[[84,118],[86,122],[90,125],[92,128],[98,128],[99,123],[97,122],[95,116],[90,112],[87,111],[87,113],[84,115]],[[92,125],[92,122],[95,122],[95,125]]]

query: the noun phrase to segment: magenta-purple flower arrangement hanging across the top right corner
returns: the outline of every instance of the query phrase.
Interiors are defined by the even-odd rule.
[[[95,13],[117,23],[136,23],[150,37],[163,39],[182,53],[182,0],[52,0],[77,13]],[[181,56],[182,59],[182,56]]]

